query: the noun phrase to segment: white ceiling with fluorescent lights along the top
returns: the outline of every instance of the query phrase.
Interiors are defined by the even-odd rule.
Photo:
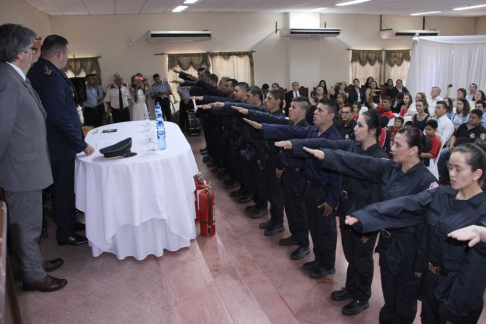
[[[184,0],[25,0],[51,16],[169,13]],[[453,8],[485,4],[484,0],[372,0],[361,4],[336,7],[344,0],[199,0],[183,13],[198,12],[307,12],[330,14],[404,15],[442,10],[439,16],[486,16],[486,7],[464,11]]]

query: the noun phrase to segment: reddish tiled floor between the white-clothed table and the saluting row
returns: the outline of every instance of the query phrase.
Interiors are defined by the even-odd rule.
[[[189,248],[166,252],[161,258],[120,261],[106,253],[93,258],[88,246],[58,247],[51,224],[50,237],[41,243],[42,252],[46,259],[64,259],[64,266],[52,274],[69,284],[58,292],[26,293],[19,283],[24,323],[378,322],[383,298],[377,266],[370,308],[354,317],[341,315],[347,302],[329,297],[343,285],[346,275],[340,239],[336,273],[321,283],[310,279],[302,264],[312,260],[312,254],[290,260],[295,247],[278,245],[288,230],[264,236],[258,229],[262,219],[247,217],[246,205],[236,203],[231,190],[202,163],[203,136],[191,137],[189,142],[203,178],[215,192],[217,234],[198,236]],[[486,323],[485,314],[480,322]]]

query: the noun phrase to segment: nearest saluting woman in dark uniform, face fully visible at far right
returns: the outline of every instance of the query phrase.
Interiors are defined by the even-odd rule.
[[[425,223],[422,247],[428,265],[421,317],[427,324],[477,323],[486,289],[486,243],[471,248],[448,235],[465,226],[486,226],[486,193],[480,187],[486,172],[484,148],[457,146],[449,165],[451,186],[370,205],[346,220],[359,231]]]

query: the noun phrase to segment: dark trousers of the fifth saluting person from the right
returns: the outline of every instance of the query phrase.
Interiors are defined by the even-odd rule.
[[[282,177],[285,215],[290,233],[299,242],[299,246],[308,248],[309,226],[304,203],[307,180],[301,170],[291,168],[285,168]]]

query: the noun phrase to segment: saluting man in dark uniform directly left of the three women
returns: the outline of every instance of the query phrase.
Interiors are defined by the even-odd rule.
[[[338,108],[334,102],[323,100],[317,105],[314,112],[314,126],[292,127],[261,125],[250,120],[247,122],[255,128],[262,128],[265,139],[327,138],[337,140],[341,139],[341,135],[334,127],[337,113]],[[315,261],[305,263],[304,269],[311,271],[309,274],[311,278],[318,279],[336,271],[334,265],[337,230],[336,217],[333,213],[341,195],[341,176],[338,173],[320,170],[310,159],[305,162],[304,175],[308,181],[304,198],[307,224],[316,257]],[[302,220],[302,225],[305,225],[305,219]]]

